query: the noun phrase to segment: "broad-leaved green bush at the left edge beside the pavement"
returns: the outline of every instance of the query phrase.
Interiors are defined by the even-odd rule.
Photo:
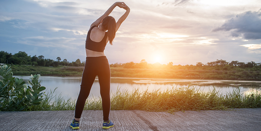
[[[23,79],[13,77],[12,69],[7,65],[0,66],[0,111],[22,111],[30,106],[36,106],[42,101],[45,87],[40,85],[40,75],[31,75],[29,85]]]

